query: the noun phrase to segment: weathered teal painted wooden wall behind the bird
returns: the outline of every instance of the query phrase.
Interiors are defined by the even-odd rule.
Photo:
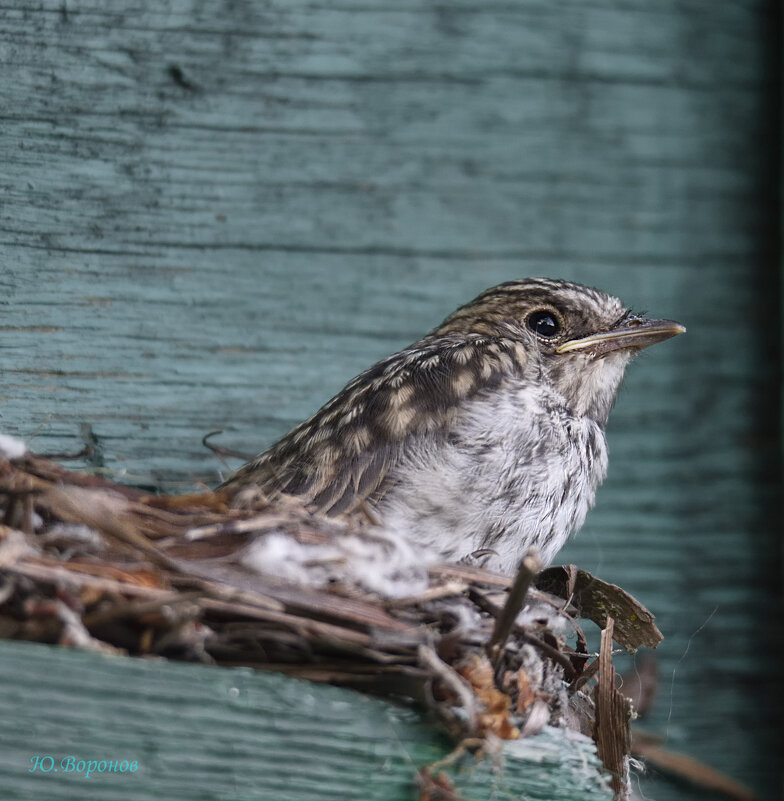
[[[7,3],[0,426],[184,488],[498,281],[682,319],[564,558],[656,612],[651,727],[770,788],[770,7]]]

